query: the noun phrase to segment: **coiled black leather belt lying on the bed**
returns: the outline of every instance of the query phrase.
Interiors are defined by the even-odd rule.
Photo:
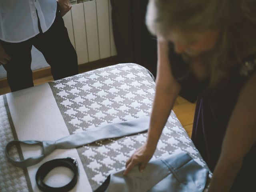
[[[62,187],[50,187],[46,185],[43,180],[45,176],[56,167],[66,167],[72,170],[74,177],[72,180]],[[67,192],[70,191],[76,185],[78,179],[78,163],[73,158],[54,159],[42,164],[36,172],[36,184],[38,188],[43,192]]]

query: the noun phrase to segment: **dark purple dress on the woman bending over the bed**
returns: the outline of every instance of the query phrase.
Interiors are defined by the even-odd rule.
[[[220,156],[228,121],[240,90],[248,78],[256,72],[256,54],[245,58],[244,68],[234,67],[230,71],[228,80],[221,82],[218,88],[210,90],[206,89],[207,80],[200,82],[192,74],[188,64],[174,52],[172,44],[169,47],[172,74],[182,85],[180,96],[190,102],[196,102],[192,141],[213,172]],[[246,154],[231,191],[256,191],[255,175],[256,144]]]

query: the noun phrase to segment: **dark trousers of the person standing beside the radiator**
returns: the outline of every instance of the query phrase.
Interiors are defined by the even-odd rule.
[[[40,23],[38,27],[41,31]],[[70,42],[58,7],[54,23],[46,32],[40,32],[24,42],[1,41],[1,44],[11,57],[11,60],[3,66],[12,92],[34,86],[30,67],[32,45],[42,52],[46,62],[51,66],[54,80],[78,74],[76,51]]]

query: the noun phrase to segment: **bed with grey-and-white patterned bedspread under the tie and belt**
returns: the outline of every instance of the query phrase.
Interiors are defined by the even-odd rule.
[[[146,141],[147,132],[58,149],[40,163],[23,169],[8,162],[6,144],[14,139],[57,140],[106,124],[150,116],[154,93],[152,74],[138,64],[126,63],[0,96],[0,191],[40,191],[35,182],[39,166],[68,156],[77,159],[80,171],[71,191],[94,191],[110,173],[124,168],[126,160]],[[181,151],[207,168],[172,111],[152,159]],[[40,154],[40,148],[18,146],[11,152],[13,158],[20,159],[35,154]],[[57,186],[69,179],[70,173],[66,174],[50,177],[47,184]]]

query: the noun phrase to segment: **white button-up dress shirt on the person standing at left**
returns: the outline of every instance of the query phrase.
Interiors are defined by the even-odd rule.
[[[56,0],[0,0],[0,39],[15,43],[36,36],[38,18],[46,32],[54,22],[56,8]]]

